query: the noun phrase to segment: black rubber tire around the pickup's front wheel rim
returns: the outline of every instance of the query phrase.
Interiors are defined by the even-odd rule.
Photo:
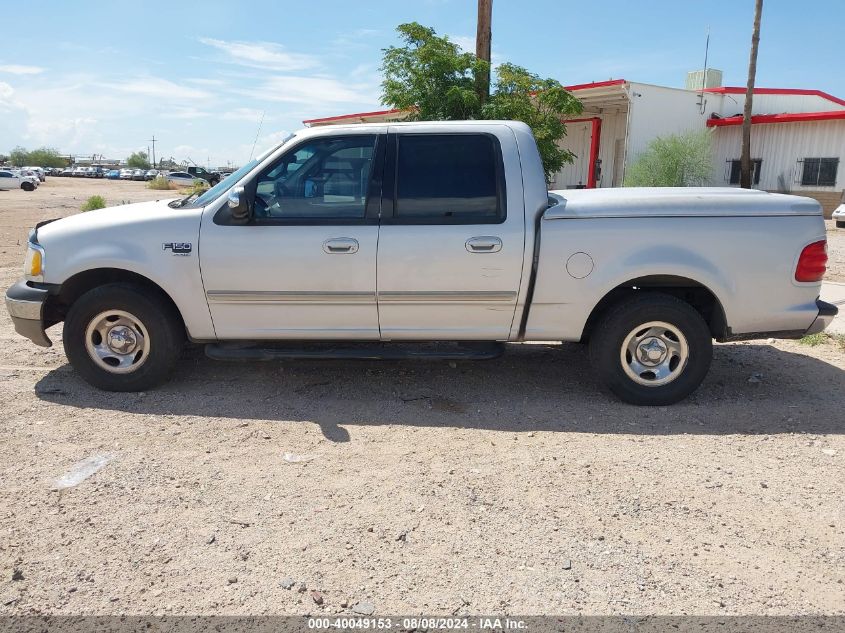
[[[98,363],[94,359],[95,352],[89,352],[89,341],[92,345],[98,339],[102,342],[96,332],[91,332],[89,338],[89,326],[109,311],[134,317],[127,319],[135,324],[132,333],[146,334],[137,340],[133,336],[136,343],[148,339],[148,348],[139,348],[137,359],[134,354],[114,354],[114,358],[137,364],[135,369],[130,366],[122,370],[126,373],[114,373],[121,370],[101,366],[100,363],[107,364],[106,361],[114,362],[114,358]],[[176,309],[155,289],[112,283],[89,290],[74,302],[65,318],[63,338],[68,360],[89,384],[106,391],[145,391],[167,380],[184,346],[185,329]]]

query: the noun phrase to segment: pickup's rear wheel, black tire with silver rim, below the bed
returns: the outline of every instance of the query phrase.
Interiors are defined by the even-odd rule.
[[[653,326],[654,332],[663,334],[650,336],[652,327],[645,326],[656,322],[671,329]],[[640,326],[643,329],[638,331]],[[677,332],[682,336],[678,337]],[[646,347],[647,342],[658,339],[653,353],[662,354],[660,358],[665,361],[655,369],[667,372],[666,377],[661,379],[649,366],[639,363],[639,359],[632,362],[629,351],[625,352],[623,360],[623,347],[631,349],[626,342],[635,345],[638,336],[642,336],[639,340]],[[673,352],[667,347],[666,343],[672,345],[673,342],[679,351]],[[635,347],[637,353],[647,351],[638,343]],[[688,303],[662,293],[645,293],[615,305],[601,318],[590,337],[590,361],[599,379],[620,399],[636,405],[664,406],[683,400],[704,380],[712,357],[713,340],[702,316]],[[685,362],[683,358],[686,358]],[[638,368],[649,371],[638,373]],[[661,384],[660,380],[668,382]]]

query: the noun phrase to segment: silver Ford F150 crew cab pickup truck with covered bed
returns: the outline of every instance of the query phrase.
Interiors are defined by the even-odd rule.
[[[507,121],[308,129],[197,197],[42,222],[6,305],[64,321],[92,385],[145,390],[189,340],[216,359],[488,358],[589,344],[635,404],[690,394],[712,341],[826,327],[819,205],[736,189],[548,192]],[[412,345],[416,343],[417,345]]]

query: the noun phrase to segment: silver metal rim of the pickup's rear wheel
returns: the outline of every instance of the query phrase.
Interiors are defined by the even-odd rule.
[[[674,325],[649,321],[623,339],[619,358],[625,374],[635,383],[660,387],[683,373],[689,361],[689,346]]]

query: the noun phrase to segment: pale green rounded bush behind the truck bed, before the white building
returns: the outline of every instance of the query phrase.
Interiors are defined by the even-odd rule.
[[[657,137],[625,174],[628,187],[695,187],[713,172],[708,130]]]

